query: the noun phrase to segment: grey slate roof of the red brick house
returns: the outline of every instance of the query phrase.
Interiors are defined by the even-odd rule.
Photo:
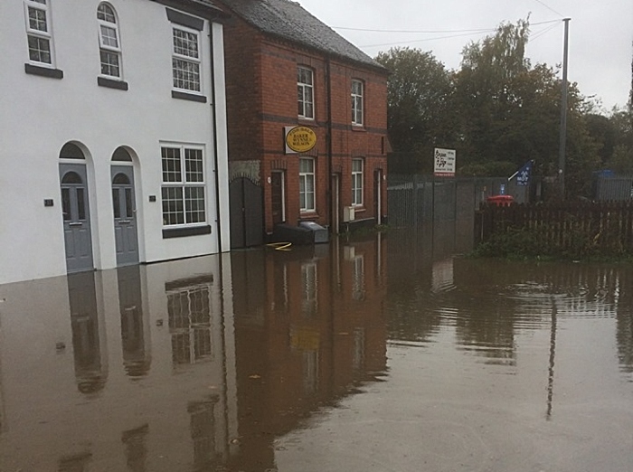
[[[303,46],[359,62],[373,68],[386,69],[348,42],[343,36],[291,0],[222,0],[233,14],[259,29]]]

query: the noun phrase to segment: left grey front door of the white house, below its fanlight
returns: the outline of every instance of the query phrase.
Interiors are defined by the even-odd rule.
[[[94,269],[86,166],[61,164],[60,181],[66,269],[69,272]]]

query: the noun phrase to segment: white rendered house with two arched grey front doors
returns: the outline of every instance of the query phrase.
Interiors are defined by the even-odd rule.
[[[229,250],[210,0],[3,0],[0,284]]]

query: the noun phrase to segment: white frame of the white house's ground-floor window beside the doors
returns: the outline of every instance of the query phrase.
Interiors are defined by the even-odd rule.
[[[204,146],[161,143],[160,149],[162,166],[161,203],[163,227],[178,228],[207,224],[209,195],[206,188]],[[167,161],[175,161],[173,158],[174,156],[165,156],[167,150],[178,152],[179,165],[177,168],[165,165],[165,159],[167,159]],[[196,163],[199,164],[199,168],[187,167],[186,151],[200,153],[200,159],[195,159]],[[179,195],[177,192],[178,190],[180,190]],[[202,190],[202,199],[199,194],[194,195],[194,190],[195,193],[199,193]],[[189,195],[187,195],[188,193]],[[203,206],[202,209],[195,204],[200,203],[201,200]],[[176,207],[169,208],[169,202],[174,202]],[[178,202],[180,202],[180,210],[178,209]],[[182,215],[182,218],[179,217],[180,215]]]

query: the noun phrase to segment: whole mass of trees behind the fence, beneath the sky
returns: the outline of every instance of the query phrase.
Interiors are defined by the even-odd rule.
[[[528,19],[501,24],[469,43],[458,71],[418,49],[378,55],[392,71],[389,136],[398,168],[431,172],[433,147],[449,147],[457,150],[461,175],[512,175],[528,160],[534,175],[558,175],[560,71],[525,57],[529,26]],[[603,117],[575,83],[568,84],[567,101],[566,196],[590,197],[593,171],[628,168],[633,104]]]

